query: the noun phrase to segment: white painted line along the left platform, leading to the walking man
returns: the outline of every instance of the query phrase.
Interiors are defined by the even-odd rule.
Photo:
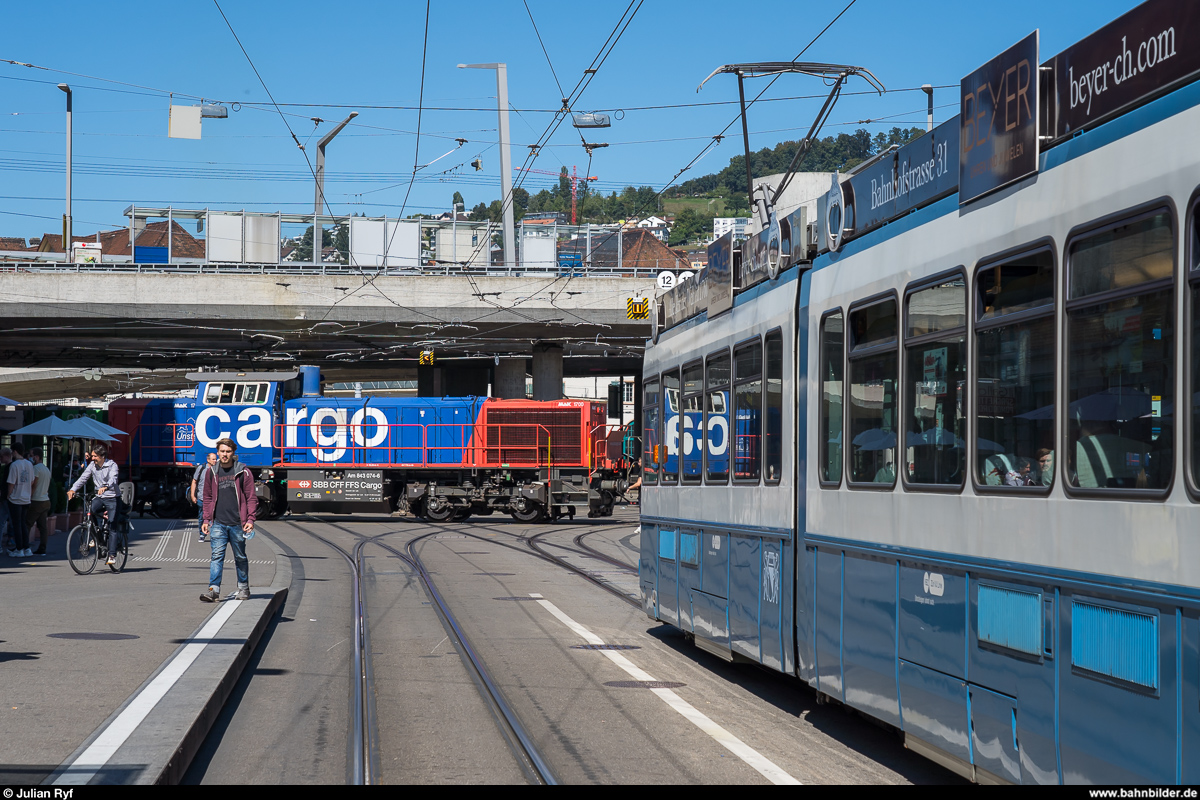
[[[125,706],[125,710],[118,715],[113,722],[101,732],[96,739],[88,745],[79,758],[74,759],[66,771],[59,776],[54,782],[55,784],[67,784],[67,786],[82,786],[96,777],[96,774],[104,769],[104,765],[113,757],[113,754],[125,744],[125,740],[137,729],[142,721],[146,718],[146,715],[154,710],[154,706],[158,704],[170,687],[187,672],[187,668],[192,666],[192,662],[199,657],[204,648],[208,646],[208,640],[216,637],[221,631],[221,627],[226,624],[226,620],[233,615],[238,606],[241,604],[240,600],[228,600],[221,608],[209,619],[209,621],[200,628],[200,632],[196,634],[197,642],[192,642],[184,646],[170,663],[158,673],[158,675],[150,681],[150,685],[142,690],[142,692],[133,698],[133,700]]]

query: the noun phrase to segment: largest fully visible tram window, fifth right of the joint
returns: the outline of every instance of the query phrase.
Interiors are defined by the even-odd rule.
[[[1068,258],[1067,479],[1084,489],[1165,491],[1175,427],[1171,217],[1164,210],[1076,240]],[[1091,300],[1102,293],[1103,302]]]

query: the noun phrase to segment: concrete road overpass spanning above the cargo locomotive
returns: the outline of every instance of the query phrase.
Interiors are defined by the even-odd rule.
[[[287,369],[328,381],[414,380],[562,348],[563,375],[641,372],[646,321],[628,279],[232,275],[0,275],[0,366]],[[326,285],[328,284],[328,285]],[[653,294],[653,289],[649,290]],[[149,389],[149,387],[148,387]],[[16,392],[13,392],[16,393]]]

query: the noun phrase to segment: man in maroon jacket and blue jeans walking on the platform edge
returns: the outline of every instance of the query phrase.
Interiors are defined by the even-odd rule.
[[[238,593],[234,600],[250,600],[250,561],[246,560],[246,534],[254,530],[258,498],[250,468],[234,456],[238,445],[232,439],[217,440],[217,463],[205,465],[200,476],[204,486],[204,511],[200,531],[212,543],[209,563],[209,588],[200,595],[206,603],[221,601],[221,576],[224,571],[226,546],[233,547],[238,567]]]

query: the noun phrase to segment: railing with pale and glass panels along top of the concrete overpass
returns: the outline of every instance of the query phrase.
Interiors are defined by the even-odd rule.
[[[545,224],[524,221],[514,230],[516,264],[497,264],[500,227],[488,221],[394,219],[320,215],[256,213],[130,206],[133,255],[104,254],[98,264],[72,264],[62,253],[0,251],[0,270],[88,272],[236,272],[258,275],[562,275],[653,277],[662,270],[690,270],[665,246],[659,257],[642,255],[629,264],[630,236],[650,231],[616,225]],[[151,223],[151,219],[163,222]],[[191,236],[181,222],[194,222]],[[155,236],[146,236],[157,227]],[[314,231],[320,229],[320,236]],[[170,230],[170,235],[164,235]],[[335,236],[335,230],[341,230]],[[347,252],[317,249],[340,237]],[[150,239],[156,245],[149,246]],[[312,249],[307,260],[295,260],[301,243]],[[164,245],[164,246],[161,246]],[[203,248],[204,257],[197,251]],[[193,251],[193,252],[188,252]],[[185,255],[185,253],[188,253]]]

